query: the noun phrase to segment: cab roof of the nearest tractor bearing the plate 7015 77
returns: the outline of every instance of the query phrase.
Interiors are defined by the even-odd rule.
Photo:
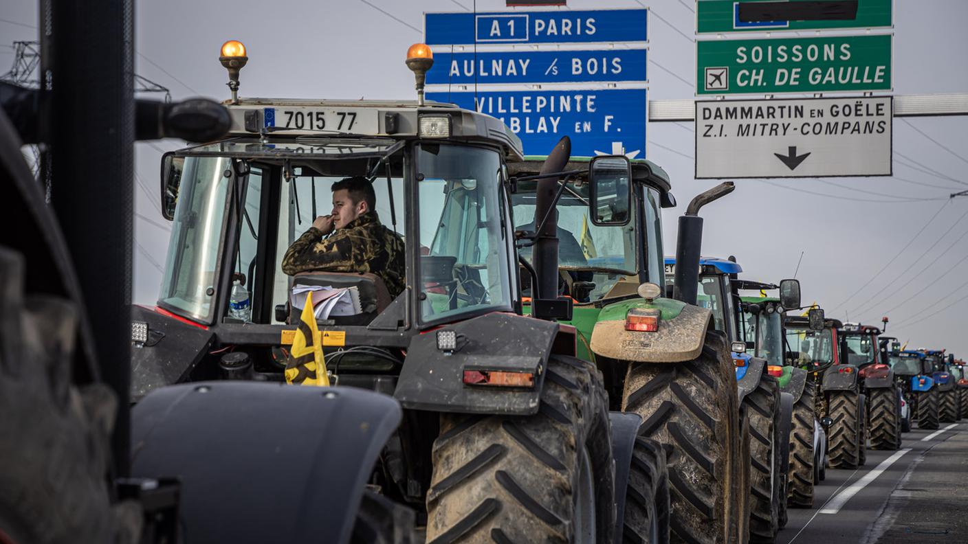
[[[521,139],[499,119],[451,104],[377,100],[239,99],[226,103],[231,136],[306,145],[332,138],[440,139],[490,143],[508,161],[521,161]]]

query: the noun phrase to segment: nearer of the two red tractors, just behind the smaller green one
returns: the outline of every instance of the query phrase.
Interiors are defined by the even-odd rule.
[[[817,415],[828,423],[828,467],[858,468],[866,462],[866,397],[858,369],[846,362],[843,323],[825,317],[823,328],[809,317],[784,319],[788,353],[811,373],[817,389]],[[826,418],[826,419],[825,419]]]

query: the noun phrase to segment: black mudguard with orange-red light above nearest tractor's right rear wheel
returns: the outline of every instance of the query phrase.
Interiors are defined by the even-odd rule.
[[[453,353],[437,348],[437,332],[457,332]],[[393,396],[404,408],[463,413],[537,413],[544,369],[558,323],[509,314],[487,314],[413,337]],[[534,374],[534,386],[465,385],[465,370]]]

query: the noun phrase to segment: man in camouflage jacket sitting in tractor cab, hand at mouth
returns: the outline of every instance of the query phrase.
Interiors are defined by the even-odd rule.
[[[362,176],[333,184],[333,211],[319,216],[283,257],[283,272],[371,272],[395,298],[404,290],[404,241],[377,216],[373,184]],[[335,233],[334,233],[335,232]],[[330,236],[332,234],[332,236]],[[329,236],[323,239],[323,236]]]

